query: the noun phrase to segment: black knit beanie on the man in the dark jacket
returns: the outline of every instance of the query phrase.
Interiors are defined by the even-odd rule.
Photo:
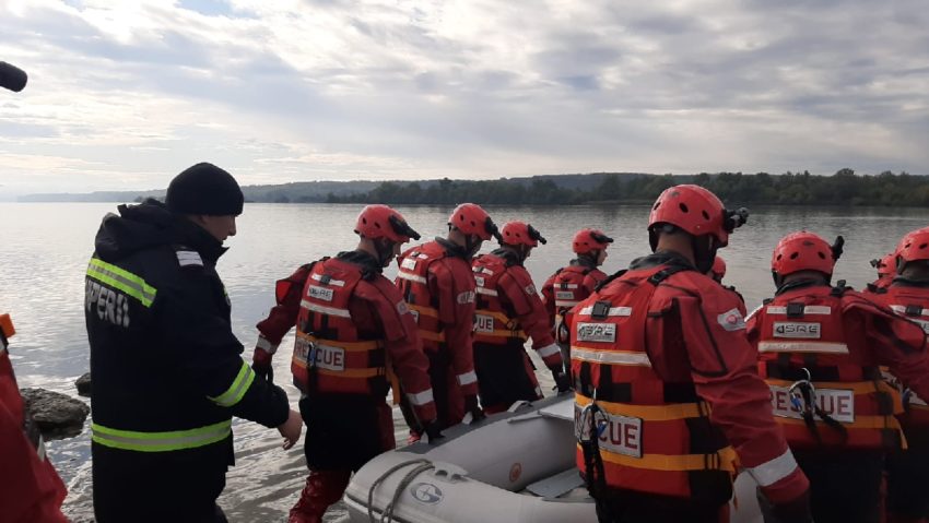
[[[186,168],[167,186],[165,204],[175,213],[239,215],[245,197],[235,178],[207,162]]]

